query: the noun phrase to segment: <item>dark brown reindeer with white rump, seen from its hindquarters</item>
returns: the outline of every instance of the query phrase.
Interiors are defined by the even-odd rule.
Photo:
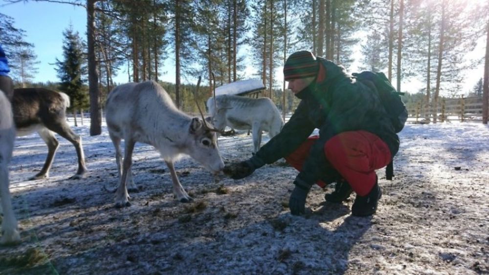
[[[66,108],[69,97],[65,93],[44,88],[20,88],[14,90],[12,111],[17,136],[25,136],[37,131],[47,145],[47,157],[43,169],[29,180],[49,177],[49,169],[59,142],[54,133],[67,139],[75,147],[78,156],[78,170],[72,179],[85,177],[85,155],[82,139],[75,134],[66,122]]]

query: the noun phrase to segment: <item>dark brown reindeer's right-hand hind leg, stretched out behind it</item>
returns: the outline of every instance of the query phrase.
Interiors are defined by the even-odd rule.
[[[83,153],[82,138],[75,134],[64,118],[58,118],[56,121],[49,122],[46,127],[51,131],[58,133],[60,136],[67,139],[76,149],[76,155],[78,156],[78,170],[74,176],[70,179],[81,179],[86,176],[87,167],[85,165],[85,155]]]

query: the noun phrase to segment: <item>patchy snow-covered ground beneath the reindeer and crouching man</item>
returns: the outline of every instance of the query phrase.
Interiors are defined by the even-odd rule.
[[[408,124],[393,181],[373,217],[354,217],[354,196],[324,202],[314,187],[305,217],[287,208],[293,168],[283,160],[243,180],[214,178],[186,157],[176,163],[195,202],[172,195],[165,164],[137,144],[132,206],[115,209],[114,149],[106,127],[83,136],[89,176],[76,172],[66,140],[50,178],[27,181],[44,163],[37,134],[18,138],[11,192],[22,244],[0,247],[0,274],[488,274],[489,128],[481,123]],[[264,135],[264,142],[268,137]],[[251,136],[219,140],[225,162],[251,156]]]

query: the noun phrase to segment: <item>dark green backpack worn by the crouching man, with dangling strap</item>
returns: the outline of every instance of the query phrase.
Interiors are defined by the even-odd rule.
[[[404,93],[396,91],[390,81],[381,72],[363,71],[361,73],[353,73],[358,81],[370,87],[371,90],[377,91],[378,97],[384,106],[387,116],[394,126],[396,133],[399,133],[407,120],[407,109],[401,100],[401,95]],[[387,165],[385,177],[392,180],[394,176],[394,167],[392,161]]]

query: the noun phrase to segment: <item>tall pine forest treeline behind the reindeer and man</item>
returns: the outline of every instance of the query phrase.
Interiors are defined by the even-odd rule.
[[[44,1],[87,10],[87,33],[78,39],[79,34],[67,26],[65,59],[57,64],[60,83],[66,82],[69,77],[62,78],[67,76],[63,63],[73,60],[71,46],[80,48],[78,86],[85,93],[88,90],[89,100],[75,106],[89,107],[90,134],[100,133],[104,98],[116,85],[113,78],[122,68],[130,81],[159,81],[167,59],[175,63],[176,79],[165,88],[184,111],[193,112],[196,106],[193,84],[182,85],[182,79],[202,76],[203,100],[211,95],[212,75],[219,86],[242,79],[250,66],[267,87],[263,94],[278,106],[285,104],[289,111],[296,102],[282,92],[285,83],[279,82],[274,72],[299,49],[311,50],[346,68],[357,61],[362,64],[361,70],[382,71],[399,91],[403,91],[403,79],[415,77],[423,88],[405,101],[422,98],[425,109],[430,110],[425,116],[434,122],[437,116],[432,112],[439,98],[460,93],[463,72],[485,62],[481,85],[474,84],[474,90],[479,85],[485,98],[487,123],[489,47],[472,60],[466,54],[478,42],[489,42],[488,1]],[[68,38],[68,33],[75,38]],[[35,45],[25,42],[24,37],[24,32],[15,27],[15,19],[0,13],[0,41],[10,54],[12,75],[18,85],[33,85]]]

